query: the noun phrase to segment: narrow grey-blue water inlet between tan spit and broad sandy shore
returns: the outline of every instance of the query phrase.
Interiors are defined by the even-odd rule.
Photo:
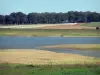
[[[57,53],[72,53],[91,57],[100,57],[100,51],[98,50],[73,50],[67,48],[42,48],[43,50],[57,52]],[[42,50],[41,49],[41,50]]]

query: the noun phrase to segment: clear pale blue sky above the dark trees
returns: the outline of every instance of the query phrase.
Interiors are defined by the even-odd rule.
[[[12,12],[100,12],[100,0],[0,0],[0,14]]]

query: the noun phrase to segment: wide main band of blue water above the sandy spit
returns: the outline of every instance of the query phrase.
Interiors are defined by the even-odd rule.
[[[100,44],[99,37],[0,37],[0,49],[33,49],[57,44]]]

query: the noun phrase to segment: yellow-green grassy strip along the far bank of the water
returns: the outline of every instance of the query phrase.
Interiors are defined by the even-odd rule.
[[[100,36],[100,30],[0,29],[0,36]]]

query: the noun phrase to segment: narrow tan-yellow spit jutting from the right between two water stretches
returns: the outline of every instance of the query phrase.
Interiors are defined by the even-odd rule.
[[[68,48],[76,50],[100,50],[100,44],[61,44],[55,46],[44,46],[41,48]]]

